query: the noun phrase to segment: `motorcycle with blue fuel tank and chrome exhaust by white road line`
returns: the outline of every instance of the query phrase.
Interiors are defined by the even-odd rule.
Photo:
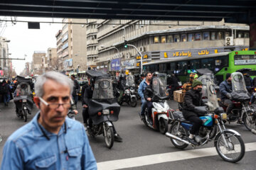
[[[245,143],[238,132],[225,128],[223,121],[226,120],[227,114],[218,105],[213,81],[207,81],[206,88],[208,92],[207,108],[196,107],[198,113],[200,113],[199,111],[206,113],[199,117],[203,120],[203,125],[198,133],[200,137],[195,137],[198,145],[188,142],[189,130],[193,123],[185,120],[180,111],[169,111],[168,123],[171,127],[166,132],[166,137],[169,137],[171,143],[178,149],[184,149],[188,145],[201,147],[214,138],[214,146],[218,155],[227,162],[238,162],[245,155]]]

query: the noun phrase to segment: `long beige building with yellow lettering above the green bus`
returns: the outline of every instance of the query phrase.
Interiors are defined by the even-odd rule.
[[[140,70],[143,62],[248,49],[249,26],[220,22],[104,20],[97,23],[97,69]],[[231,44],[226,38],[232,38]],[[124,40],[128,47],[124,47]],[[205,54],[203,54],[205,52]],[[117,61],[119,59],[119,62]],[[105,69],[106,70],[106,69]]]

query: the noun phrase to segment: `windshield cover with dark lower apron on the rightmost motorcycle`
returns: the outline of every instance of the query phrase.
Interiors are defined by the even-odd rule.
[[[250,96],[248,95],[248,91],[245,86],[245,79],[240,72],[233,72],[231,74],[231,81],[232,81],[232,89],[233,92],[231,96],[236,101],[244,101],[250,100]]]

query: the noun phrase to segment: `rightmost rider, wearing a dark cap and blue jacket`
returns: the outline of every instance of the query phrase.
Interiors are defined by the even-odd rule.
[[[227,115],[230,114],[230,112],[234,107],[233,102],[231,101],[232,99],[231,92],[232,92],[231,74],[227,73],[226,80],[220,84],[221,102],[223,103],[223,105],[227,106],[227,111],[226,111]],[[242,120],[239,119],[238,123],[242,124]]]

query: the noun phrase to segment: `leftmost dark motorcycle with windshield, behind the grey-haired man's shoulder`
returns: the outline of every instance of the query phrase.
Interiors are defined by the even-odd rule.
[[[28,114],[31,115],[33,101],[31,97],[31,87],[26,82],[20,82],[16,87],[16,96],[14,96],[16,105],[16,115],[18,118],[27,121]]]

